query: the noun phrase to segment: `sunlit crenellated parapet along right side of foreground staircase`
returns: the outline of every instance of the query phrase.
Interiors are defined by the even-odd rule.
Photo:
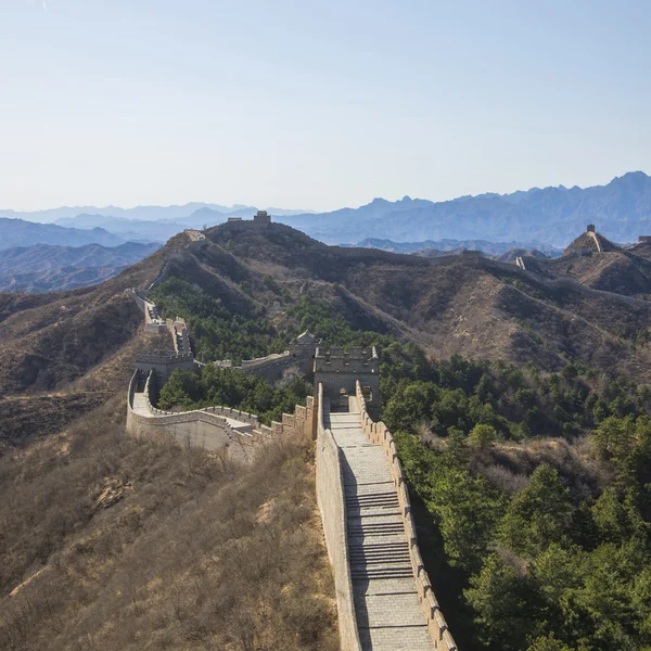
[[[457,649],[457,644],[449,633],[445,617],[441,612],[438,601],[434,596],[434,589],[432,588],[430,577],[425,572],[420,550],[418,548],[416,526],[411,516],[411,505],[409,503],[409,495],[405,486],[403,468],[398,459],[398,452],[393,435],[383,422],[374,422],[369,416],[363,392],[359,382],[357,383],[356,393],[357,405],[361,414],[362,432],[372,443],[382,447],[391,465],[392,477],[400,505],[400,516],[403,519],[405,534],[409,545],[409,558],[411,561],[413,578],[416,579],[419,600],[427,621],[430,636],[434,642],[435,649],[454,651]]]

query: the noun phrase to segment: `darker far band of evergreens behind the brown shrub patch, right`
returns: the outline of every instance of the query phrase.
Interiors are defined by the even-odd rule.
[[[416,346],[383,349],[383,419],[392,430],[416,432],[425,425],[438,436],[464,434],[487,425],[496,439],[533,436],[573,439],[609,417],[636,418],[651,409],[651,391],[624,378],[609,378],[569,363],[560,373],[534,363],[452,356],[429,363]],[[488,432],[485,427],[484,433]]]

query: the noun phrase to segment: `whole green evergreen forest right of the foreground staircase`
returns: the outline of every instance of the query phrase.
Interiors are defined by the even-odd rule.
[[[394,378],[384,418],[455,577],[450,602],[458,612],[446,616],[464,629],[467,643],[507,651],[651,648],[647,387],[575,368],[542,374],[532,365],[518,371],[460,358],[427,372]],[[536,420],[527,418],[533,409]],[[443,445],[418,435],[423,424]],[[608,484],[597,495],[572,496],[542,463],[525,487],[506,494],[474,471],[482,448],[545,433],[586,433]]]

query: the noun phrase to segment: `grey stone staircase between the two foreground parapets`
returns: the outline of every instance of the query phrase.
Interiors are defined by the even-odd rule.
[[[355,614],[365,651],[434,651],[422,612],[388,461],[348,411],[324,414],[344,454],[348,556]]]

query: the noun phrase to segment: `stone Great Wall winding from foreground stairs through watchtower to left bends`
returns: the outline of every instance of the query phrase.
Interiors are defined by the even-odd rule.
[[[193,358],[182,319],[164,320],[140,292],[130,293],[145,331],[169,332],[175,349],[137,356],[127,431],[173,436],[244,462],[273,438],[297,433],[315,438],[317,501],[334,573],[342,650],[455,651],[418,548],[393,436],[369,414],[379,408],[375,349],[324,349],[306,332],[280,355],[244,360],[240,370],[266,379],[290,367],[314,371],[315,397],[271,426],[227,407],[164,411],[155,406],[158,384],[176,369],[202,365]]]

